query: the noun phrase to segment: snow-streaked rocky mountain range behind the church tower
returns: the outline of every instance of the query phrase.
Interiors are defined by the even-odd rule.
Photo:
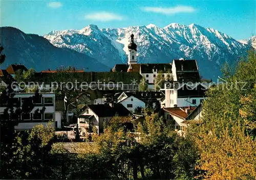
[[[247,44],[222,32],[196,24],[172,23],[164,28],[150,24],[120,29],[89,25],[82,30],[52,31],[44,37],[56,47],[70,48],[114,66],[127,62],[127,44],[132,33],[140,63],[164,63],[181,57],[197,59],[204,78],[216,78],[224,62],[239,60],[249,49]]]

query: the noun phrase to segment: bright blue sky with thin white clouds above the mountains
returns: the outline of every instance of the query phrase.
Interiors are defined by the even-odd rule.
[[[0,0],[1,1],[1,0]],[[2,0],[1,26],[44,35],[52,30],[123,28],[176,22],[217,29],[235,39],[256,34],[256,1],[27,1]]]

